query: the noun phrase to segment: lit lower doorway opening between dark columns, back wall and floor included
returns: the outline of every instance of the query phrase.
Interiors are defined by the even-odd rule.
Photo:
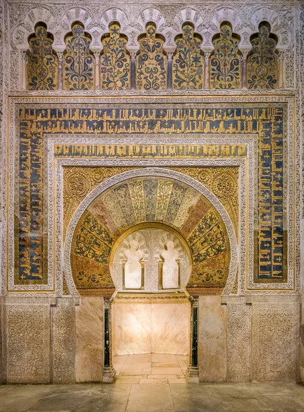
[[[186,297],[115,299],[112,304],[113,367],[118,381],[185,382],[190,310]]]

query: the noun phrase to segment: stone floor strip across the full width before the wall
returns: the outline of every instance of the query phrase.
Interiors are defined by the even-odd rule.
[[[0,385],[0,412],[303,412],[304,387],[138,383]]]

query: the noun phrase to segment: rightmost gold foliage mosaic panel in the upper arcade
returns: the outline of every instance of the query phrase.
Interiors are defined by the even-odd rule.
[[[252,52],[247,60],[248,89],[276,89],[278,87],[278,63],[276,41],[270,35],[270,27],[261,25],[259,33],[250,38]]]

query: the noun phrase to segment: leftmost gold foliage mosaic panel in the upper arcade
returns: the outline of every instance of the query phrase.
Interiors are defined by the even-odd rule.
[[[58,58],[52,49],[52,35],[44,25],[37,25],[29,40],[28,90],[56,90]]]

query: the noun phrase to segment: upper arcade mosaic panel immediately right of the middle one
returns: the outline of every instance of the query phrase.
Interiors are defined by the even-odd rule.
[[[177,49],[173,57],[173,88],[202,89],[204,84],[202,38],[195,36],[191,23],[185,23],[182,27],[182,36],[176,38],[175,43]]]

